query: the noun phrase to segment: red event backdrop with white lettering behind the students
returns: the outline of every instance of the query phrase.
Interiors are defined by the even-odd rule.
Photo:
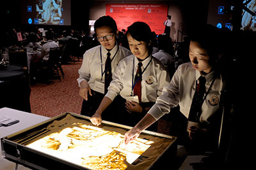
[[[120,31],[142,21],[150,26],[151,31],[162,34],[167,13],[167,4],[106,4],[106,15],[114,18]]]

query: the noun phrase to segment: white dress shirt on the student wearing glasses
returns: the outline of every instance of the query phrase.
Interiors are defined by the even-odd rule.
[[[119,49],[118,49],[119,48]],[[101,49],[101,52],[100,52]],[[118,51],[117,51],[118,50]],[[116,53],[117,52],[117,53]],[[101,53],[101,59],[100,59]],[[90,50],[87,50],[83,55],[83,63],[81,68],[78,70],[79,78],[77,78],[78,85],[80,87],[80,83],[83,80],[88,81],[90,88],[93,89],[93,85],[95,81],[104,81],[104,74],[102,73],[105,69],[105,62],[107,59],[108,50],[104,48],[102,45],[95,46]],[[120,60],[124,59],[127,55],[131,55],[131,51],[123,46],[115,45],[114,48],[110,51],[112,60],[115,53],[115,58],[111,62],[112,73],[114,73],[118,63]]]

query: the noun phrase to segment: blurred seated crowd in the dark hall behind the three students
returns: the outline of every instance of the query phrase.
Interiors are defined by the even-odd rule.
[[[40,49],[41,46],[47,42],[47,38],[45,36],[45,32],[47,31],[53,32],[53,41],[58,43],[60,46],[65,46],[66,48],[66,52],[63,53],[62,56],[63,64],[72,60],[70,57],[71,55],[76,55],[76,57],[83,58],[83,54],[86,52],[86,50],[92,48],[93,46],[100,45],[95,34],[86,32],[84,30],[54,28],[44,30],[39,29],[38,27],[33,29],[20,29],[20,27],[13,27],[3,34],[3,38],[1,39],[0,43],[0,52],[8,52],[9,48],[29,47],[33,48],[34,50]],[[173,43],[172,38],[162,34],[157,35],[156,32],[152,32],[152,39],[154,46],[153,53],[155,53],[154,57],[161,60],[164,66],[170,70],[170,73],[174,73],[175,66],[177,69],[177,64],[182,64],[188,61],[188,53],[181,52],[184,48],[186,48],[186,43]],[[116,41],[118,45],[122,45],[129,49],[125,29],[118,32]],[[179,50],[179,53],[177,50]],[[177,59],[178,55],[179,60]],[[176,61],[174,61],[174,59]]]

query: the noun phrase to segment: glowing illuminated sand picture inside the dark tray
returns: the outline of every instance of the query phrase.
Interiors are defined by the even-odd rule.
[[[67,127],[27,145],[89,169],[126,169],[153,141],[136,139],[124,145],[124,135],[92,125]]]

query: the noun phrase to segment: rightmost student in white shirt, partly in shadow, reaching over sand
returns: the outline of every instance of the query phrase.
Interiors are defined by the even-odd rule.
[[[225,80],[221,76],[221,57],[224,48],[220,45],[219,30],[206,25],[191,36],[189,58],[191,62],[182,64],[173,75],[170,84],[156,100],[156,104],[134,128],[125,134],[125,143],[136,139],[141,131],[169,113],[170,109],[180,106],[180,112],[189,120],[196,84],[200,76],[205,78],[204,99],[200,101],[201,114],[195,124],[188,122],[188,130],[184,132],[188,144],[196,148],[215,148],[220,132],[220,97]],[[221,37],[222,38],[222,37]],[[172,111],[170,112],[172,114]],[[175,120],[173,120],[175,121]]]

